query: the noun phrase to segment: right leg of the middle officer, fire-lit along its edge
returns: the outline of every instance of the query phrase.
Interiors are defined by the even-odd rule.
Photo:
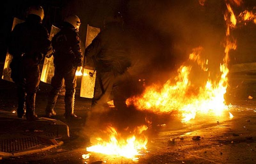
[[[76,93],[76,67],[72,68],[64,76],[66,92],[65,92],[65,118],[66,119],[77,119],[80,120],[81,117],[74,114],[75,106],[75,93]]]

